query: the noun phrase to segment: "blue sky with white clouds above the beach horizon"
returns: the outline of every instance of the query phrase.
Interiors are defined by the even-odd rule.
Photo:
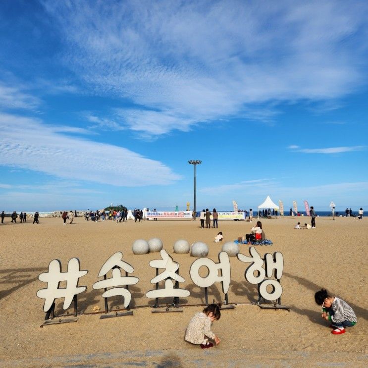
[[[0,2],[1,210],[368,207],[366,1]]]

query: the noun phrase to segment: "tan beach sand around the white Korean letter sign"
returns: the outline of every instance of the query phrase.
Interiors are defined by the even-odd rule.
[[[310,222],[300,217],[300,221]],[[257,287],[244,278],[248,264],[231,258],[229,302],[234,310],[222,312],[212,330],[221,344],[201,350],[183,340],[192,315],[201,311],[204,291],[193,285],[189,268],[193,257],[173,253],[177,239],[190,244],[203,241],[209,245],[209,257],[218,262],[223,243],[213,243],[217,231],[224,242],[249,232],[252,224],[243,221],[219,222],[218,229],[201,229],[199,221],[114,221],[91,222],[81,217],[72,225],[63,225],[60,218],[40,218],[31,222],[0,225],[0,367],[303,367],[343,365],[364,367],[367,359],[368,287],[367,287],[367,218],[318,217],[316,228],[295,230],[297,218],[263,220],[263,229],[272,246],[258,246],[265,253],[279,251],[284,256],[281,278],[281,303],[285,310],[261,310],[252,305]],[[153,289],[150,280],[155,269],[149,261],[158,253],[133,255],[134,240],[158,237],[164,249],[180,264],[185,278],[181,287],[190,290],[180,299],[182,313],[151,313],[154,301],[145,293]],[[249,246],[241,253],[249,255]],[[140,279],[130,286],[132,316],[100,320],[94,307],[104,310],[101,290],[92,289],[105,261],[121,251],[123,260],[134,267],[131,274]],[[75,323],[40,328],[45,314],[44,301],[36,296],[46,287],[38,280],[50,261],[58,259],[63,271],[69,259],[77,257],[81,269],[88,274],[80,279],[87,291],[78,297]],[[338,295],[355,311],[358,323],[343,335],[332,335],[328,323],[320,317],[314,293],[321,287]],[[209,300],[223,301],[221,286],[209,289]],[[56,314],[62,311],[62,299],[56,303]],[[167,301],[160,302],[165,305]],[[110,308],[123,309],[122,298],[111,298]],[[73,313],[72,308],[69,313]]]

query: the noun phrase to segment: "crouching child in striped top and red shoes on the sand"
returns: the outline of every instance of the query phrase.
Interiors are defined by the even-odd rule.
[[[352,327],[358,321],[357,316],[348,303],[338,297],[328,295],[325,289],[315,293],[315,303],[322,306],[321,317],[332,322],[330,327],[333,328],[331,333],[334,335],[345,333],[344,327]]]

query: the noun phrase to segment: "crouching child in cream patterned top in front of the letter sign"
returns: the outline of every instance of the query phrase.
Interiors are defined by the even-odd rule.
[[[185,332],[185,340],[196,345],[201,345],[202,349],[208,349],[213,343],[208,341],[214,340],[216,345],[220,343],[220,339],[211,331],[213,321],[220,319],[220,307],[217,304],[210,304],[203,312],[198,312],[190,320]]]

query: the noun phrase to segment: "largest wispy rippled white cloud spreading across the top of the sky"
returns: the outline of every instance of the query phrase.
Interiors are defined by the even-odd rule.
[[[152,135],[239,112],[253,118],[254,104],[339,98],[367,82],[367,50],[354,47],[367,26],[364,3],[44,4],[65,64],[96,93],[144,106],[119,114]]]

